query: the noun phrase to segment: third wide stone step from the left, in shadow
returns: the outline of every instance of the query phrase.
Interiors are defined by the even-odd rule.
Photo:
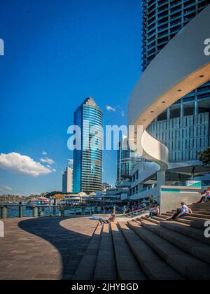
[[[145,281],[146,275],[139,267],[137,259],[132,253],[130,246],[123,237],[116,223],[111,224],[113,246],[116,254],[116,268],[118,279],[121,281]]]

